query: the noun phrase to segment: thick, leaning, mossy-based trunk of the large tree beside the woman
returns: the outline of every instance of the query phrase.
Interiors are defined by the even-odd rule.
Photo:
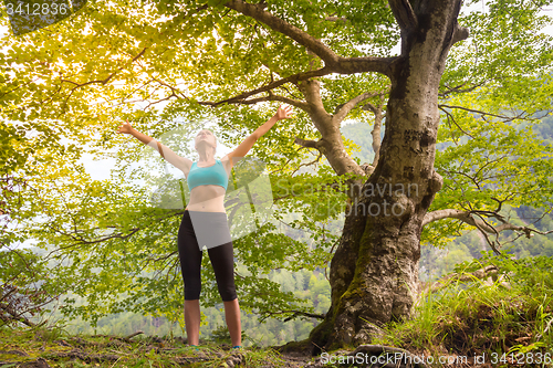
[[[414,15],[403,17],[378,164],[346,213],[331,263],[332,305],[310,337],[315,346],[366,344],[384,323],[410,316],[419,293],[422,219],[441,188],[434,170],[438,87],[459,7],[457,0],[418,1]]]

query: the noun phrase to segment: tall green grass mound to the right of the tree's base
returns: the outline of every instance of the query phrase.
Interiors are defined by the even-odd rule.
[[[435,360],[486,355],[487,362],[504,357],[497,359],[493,366],[498,367],[536,367],[529,357],[540,356],[542,364],[553,365],[553,261],[495,262],[504,278],[491,284],[473,280],[426,294],[411,320],[388,324],[386,334],[373,344],[430,355]],[[462,264],[457,271],[468,274],[471,269]]]

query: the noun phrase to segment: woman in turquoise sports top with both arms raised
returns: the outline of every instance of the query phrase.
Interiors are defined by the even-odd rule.
[[[190,201],[185,209],[178,232],[178,252],[185,282],[185,324],[190,346],[198,346],[199,343],[201,248],[206,245],[225,304],[225,317],[232,347],[241,347],[240,306],[234,288],[234,262],[225,210],[225,192],[232,165],[244,157],[253,144],[278,120],[290,118],[290,109],[279,106],[273,117],[220,160],[215,159],[217,139],[207,129],[200,130],[195,138],[195,148],[200,158],[198,162],[192,162],[134,129],[128,122],[118,128],[118,133],[131,134],[145,145],[157,149],[163,158],[185,174],[190,188]]]

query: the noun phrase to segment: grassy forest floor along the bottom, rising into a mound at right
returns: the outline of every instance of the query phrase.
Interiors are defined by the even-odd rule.
[[[334,357],[359,351],[378,356],[390,347],[390,354],[404,349],[413,357],[426,357],[427,366],[432,367],[553,367],[553,260],[478,262],[459,265],[459,280],[489,264],[497,267],[493,280],[450,282],[424,294],[413,319],[384,326],[371,346],[325,353]],[[56,327],[0,329],[2,368],[369,366],[281,355],[272,348],[229,348],[204,343],[196,350],[179,338],[143,335],[69,336]],[[428,365],[428,357],[432,364]]]

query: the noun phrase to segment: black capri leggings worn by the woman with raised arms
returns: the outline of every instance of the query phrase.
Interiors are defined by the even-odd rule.
[[[212,222],[213,227],[219,229],[211,229],[212,232],[227,232],[226,238],[230,240],[228,233],[227,214],[223,212],[192,212],[196,219],[202,219]],[[225,218],[225,219],[223,219]],[[202,225],[201,228],[205,228]],[[209,227],[208,227],[209,228]],[[232,241],[226,242],[221,245],[208,246],[209,259],[213,266],[215,277],[219,294],[223,302],[230,302],[237,298],[234,287],[234,255],[232,252]],[[201,256],[204,252],[198,246],[198,239],[194,231],[192,221],[188,210],[182,215],[182,222],[178,230],[178,255],[180,259],[180,271],[182,272],[182,280],[185,282],[185,301],[195,301],[200,298],[201,291]]]

